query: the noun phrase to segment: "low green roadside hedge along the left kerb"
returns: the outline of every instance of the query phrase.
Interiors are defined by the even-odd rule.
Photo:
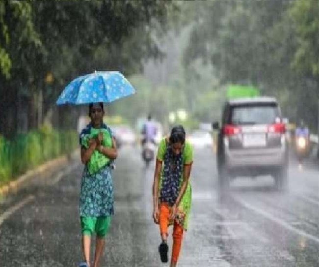
[[[10,142],[0,136],[0,184],[77,147],[77,132],[57,131],[49,124],[38,131],[17,134]]]

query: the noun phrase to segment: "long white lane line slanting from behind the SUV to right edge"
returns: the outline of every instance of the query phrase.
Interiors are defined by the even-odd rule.
[[[310,234],[308,234],[308,233],[306,233],[306,232],[304,232],[302,230],[299,230],[299,229],[293,227],[292,225],[290,225],[289,223],[287,223],[287,222],[285,222],[285,221],[283,221],[281,219],[276,218],[275,216],[271,215],[270,213],[266,212],[265,210],[262,210],[262,209],[259,209],[257,207],[254,207],[254,206],[250,205],[249,203],[247,203],[247,202],[245,202],[245,201],[243,201],[243,200],[241,200],[241,199],[239,199],[237,197],[234,197],[234,199],[237,202],[239,202],[243,207],[245,207],[247,209],[250,209],[250,210],[254,211],[255,213],[258,213],[258,214],[264,216],[268,220],[270,220],[270,221],[282,226],[283,228],[285,228],[285,229],[287,229],[287,230],[289,230],[289,231],[291,231],[291,232],[293,232],[293,233],[295,233],[295,234],[297,234],[299,236],[306,237],[306,238],[308,238],[310,240],[315,241],[316,243],[319,243],[319,238],[318,237],[315,237],[315,236],[310,235]]]

